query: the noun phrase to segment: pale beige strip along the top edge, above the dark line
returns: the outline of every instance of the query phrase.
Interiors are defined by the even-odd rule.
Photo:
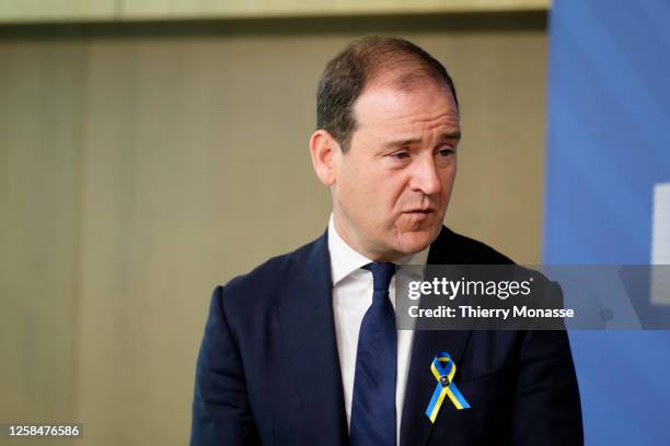
[[[0,23],[545,11],[550,0],[2,0]]]

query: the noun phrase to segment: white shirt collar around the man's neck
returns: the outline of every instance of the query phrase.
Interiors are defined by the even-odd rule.
[[[428,260],[429,250],[430,245],[418,253],[409,254],[396,260],[394,263],[425,266]],[[372,262],[372,260],[351,248],[339,234],[337,234],[333,214],[331,214],[328,221],[328,251],[331,254],[331,277],[333,278],[333,285],[336,285],[340,280],[354,271]]]

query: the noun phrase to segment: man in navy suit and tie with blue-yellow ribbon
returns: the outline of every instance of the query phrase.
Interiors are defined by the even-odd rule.
[[[310,140],[328,228],[215,290],[192,445],[582,443],[564,331],[395,329],[395,265],[511,263],[442,226],[460,137],[451,78],[415,45],[367,37],[328,62]],[[440,352],[469,408],[430,419]]]

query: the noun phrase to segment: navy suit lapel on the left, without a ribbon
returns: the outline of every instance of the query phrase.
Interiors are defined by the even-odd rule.
[[[289,365],[319,444],[345,445],[348,429],[333,316],[327,233],[291,260],[279,320]]]

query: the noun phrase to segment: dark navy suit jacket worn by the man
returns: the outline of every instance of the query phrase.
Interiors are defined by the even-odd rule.
[[[443,227],[428,263],[511,260]],[[198,356],[192,446],[347,445],[327,233],[218,286]],[[425,415],[447,351],[471,409]],[[448,402],[448,401],[447,401]],[[581,445],[565,331],[416,331],[401,446]]]

